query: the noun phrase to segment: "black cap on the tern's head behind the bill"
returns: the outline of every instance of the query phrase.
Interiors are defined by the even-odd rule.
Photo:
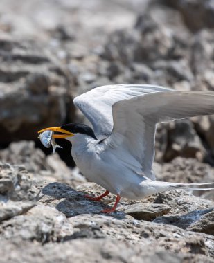
[[[83,123],[68,123],[61,126],[62,129],[72,132],[72,134],[86,134],[97,140],[93,129]]]

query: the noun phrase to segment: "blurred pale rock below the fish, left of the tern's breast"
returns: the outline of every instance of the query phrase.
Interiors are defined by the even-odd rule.
[[[4,162],[25,165],[26,170],[37,179],[57,180],[72,187],[86,181],[77,169],[67,167],[57,153],[46,157],[41,149],[35,147],[33,141],[11,143],[8,148],[0,150],[0,158]]]

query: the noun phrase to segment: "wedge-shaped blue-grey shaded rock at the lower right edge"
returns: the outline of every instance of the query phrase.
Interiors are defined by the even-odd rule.
[[[214,209],[194,210],[181,215],[167,215],[154,219],[155,223],[179,226],[186,230],[214,235],[213,224]]]

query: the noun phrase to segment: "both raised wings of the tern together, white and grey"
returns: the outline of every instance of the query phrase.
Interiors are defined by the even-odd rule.
[[[117,147],[121,161],[150,179],[155,179],[157,123],[214,114],[213,92],[174,91],[147,84],[102,86],[73,102],[91,121],[96,138],[105,139],[107,147]]]

